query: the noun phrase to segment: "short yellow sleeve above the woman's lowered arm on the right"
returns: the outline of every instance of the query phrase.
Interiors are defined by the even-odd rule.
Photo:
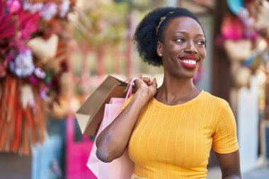
[[[213,149],[219,154],[229,154],[239,149],[236,120],[227,102],[213,134]]]

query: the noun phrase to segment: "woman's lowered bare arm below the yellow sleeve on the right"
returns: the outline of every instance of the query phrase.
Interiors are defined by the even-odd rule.
[[[222,179],[241,179],[239,151],[230,154],[218,154],[217,160],[222,171]]]

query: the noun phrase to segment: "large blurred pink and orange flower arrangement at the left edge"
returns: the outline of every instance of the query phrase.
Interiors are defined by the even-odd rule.
[[[0,151],[29,154],[42,142],[45,106],[67,70],[62,26],[74,0],[0,0]],[[61,32],[61,33],[60,33]]]

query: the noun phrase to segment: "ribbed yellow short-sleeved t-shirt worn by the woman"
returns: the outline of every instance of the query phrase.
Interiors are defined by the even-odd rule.
[[[227,101],[202,91],[180,105],[152,98],[139,115],[128,151],[139,178],[201,179],[207,178],[212,145],[219,154],[238,150],[236,122]]]

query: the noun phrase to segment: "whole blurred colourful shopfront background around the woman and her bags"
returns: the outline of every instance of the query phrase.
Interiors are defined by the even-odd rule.
[[[198,16],[207,57],[195,84],[229,101],[243,178],[269,178],[269,1],[0,0],[0,178],[95,178],[93,136],[74,112],[109,75],[155,77],[132,35],[153,8]],[[214,153],[208,178],[221,178]]]

